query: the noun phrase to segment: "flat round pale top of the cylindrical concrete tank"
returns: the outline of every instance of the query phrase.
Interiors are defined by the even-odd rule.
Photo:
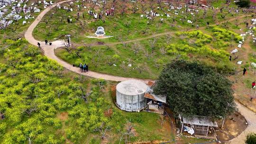
[[[125,95],[139,95],[145,93],[147,85],[138,80],[122,81],[117,85],[117,91]]]

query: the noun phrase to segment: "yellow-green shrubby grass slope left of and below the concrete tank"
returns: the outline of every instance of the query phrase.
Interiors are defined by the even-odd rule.
[[[137,136],[132,138],[133,142],[141,140],[170,140],[170,131],[163,131],[163,133],[159,134],[155,133],[163,128],[158,122],[158,114],[148,112],[129,113],[117,108],[111,98],[110,84],[104,86],[106,88],[105,90],[100,90],[99,86],[95,85],[93,82],[97,80],[87,79],[81,82],[76,79],[79,75],[73,72],[64,72],[63,76],[60,78],[55,74],[54,70],[48,67],[50,65],[58,65],[39,54],[37,47],[27,44],[24,40],[17,42],[8,41],[7,45],[10,43],[13,44],[9,47],[10,51],[5,51],[4,56],[1,55],[0,58],[0,63],[6,68],[0,73],[0,90],[4,89],[0,92],[0,111],[1,113],[5,113],[6,116],[5,119],[0,120],[0,124],[7,124],[7,128],[0,134],[0,144],[8,140],[10,143],[27,143],[26,138],[16,139],[15,132],[20,129],[25,129],[20,133],[20,136],[23,137],[29,134],[28,132],[30,131],[27,132],[27,129],[31,128],[31,131],[34,132],[34,127],[39,130],[35,134],[34,144],[48,143],[51,140],[56,141],[58,144],[64,144],[67,139],[70,139],[70,141],[73,141],[75,144],[98,144],[102,141],[100,133],[93,131],[90,127],[81,126],[80,123],[78,123],[78,119],[85,118],[84,122],[88,121],[90,120],[89,117],[95,114],[102,115],[103,112],[109,108],[113,110],[113,115],[111,117],[101,117],[107,120],[111,125],[111,130],[108,132],[109,143],[113,144],[114,142],[119,142],[119,137],[126,130],[128,121],[134,125],[137,133]],[[17,68],[11,67],[7,61],[3,60],[8,59],[9,54],[18,54],[16,53],[17,51],[27,46],[31,47],[30,50],[37,50],[37,53],[34,56],[29,56],[26,55],[29,51],[23,49],[23,52],[20,52],[20,54],[22,54],[21,59],[15,56],[13,57],[18,58]],[[49,70],[49,68],[51,70]],[[13,77],[10,76],[11,70],[17,70],[17,75]],[[34,89],[27,89],[34,84],[31,82],[34,80],[34,74],[35,76],[40,74],[40,78],[43,78],[43,80],[37,82]],[[72,84],[81,84],[84,88],[93,91],[94,94],[88,97],[87,103],[80,98],[79,90],[76,91],[72,88]],[[67,86],[65,88],[66,92],[58,99],[55,95],[55,91],[61,86]],[[35,92],[30,95],[29,90],[35,90]],[[6,95],[6,92],[9,92],[9,95]],[[34,94],[40,96],[34,97]],[[26,102],[22,102],[23,100]],[[15,113],[15,108],[17,108],[18,111],[22,111],[23,108],[29,108],[30,102],[38,103],[38,110],[34,111],[30,117],[28,117],[26,113],[22,113],[21,115]],[[9,107],[6,104],[9,104]],[[87,115],[82,114],[82,112],[73,115],[73,113],[77,111],[76,107],[84,108],[84,111],[90,112],[87,112]],[[68,119],[60,121],[59,115],[62,112],[69,112]],[[14,119],[11,119],[11,117]],[[21,119],[16,119],[17,117],[21,117]],[[45,123],[46,119],[51,118],[54,118],[56,121],[54,121],[54,123]],[[30,123],[31,120],[34,122]],[[95,121],[98,120],[98,118],[95,119]],[[60,123],[59,126],[58,123]],[[31,126],[32,124],[33,126]],[[71,133],[67,132],[69,129]],[[149,137],[148,135],[154,136]]]

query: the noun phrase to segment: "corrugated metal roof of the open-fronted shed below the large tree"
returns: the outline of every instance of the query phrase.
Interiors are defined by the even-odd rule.
[[[215,126],[218,127],[216,121],[211,120],[210,117],[203,116],[182,116],[184,124],[199,125],[199,126]]]

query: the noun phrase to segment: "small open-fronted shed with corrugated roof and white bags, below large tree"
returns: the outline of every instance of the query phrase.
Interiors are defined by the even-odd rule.
[[[209,127],[218,127],[217,122],[210,117],[204,116],[179,116],[182,123],[182,130],[194,136],[208,136]]]

